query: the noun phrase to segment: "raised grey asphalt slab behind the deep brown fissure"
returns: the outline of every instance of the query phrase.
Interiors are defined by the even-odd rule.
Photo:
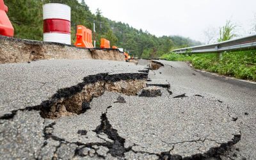
[[[0,67],[0,116],[40,105],[61,88],[96,74],[141,73],[143,66],[102,60],[42,60],[6,63]]]

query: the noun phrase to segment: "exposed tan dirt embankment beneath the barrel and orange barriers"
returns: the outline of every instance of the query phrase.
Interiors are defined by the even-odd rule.
[[[81,49],[73,45],[0,36],[0,63],[19,63],[49,59],[125,61],[124,55],[115,50]]]

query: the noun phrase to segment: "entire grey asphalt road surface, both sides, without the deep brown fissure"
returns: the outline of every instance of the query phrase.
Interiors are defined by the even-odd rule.
[[[255,159],[255,84],[159,62],[164,66],[148,74],[148,61],[0,65],[1,159]],[[74,86],[85,80],[147,76],[148,86],[156,86],[150,97],[104,92],[80,115],[40,115],[60,89],[76,93]]]

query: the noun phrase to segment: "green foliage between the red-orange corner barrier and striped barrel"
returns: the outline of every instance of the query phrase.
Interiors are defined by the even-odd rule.
[[[31,40],[42,40],[42,1],[4,1],[8,6],[8,17],[15,29],[14,36]]]

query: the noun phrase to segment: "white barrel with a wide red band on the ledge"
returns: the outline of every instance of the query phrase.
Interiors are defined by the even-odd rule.
[[[70,6],[48,3],[43,6],[44,41],[71,44]]]

